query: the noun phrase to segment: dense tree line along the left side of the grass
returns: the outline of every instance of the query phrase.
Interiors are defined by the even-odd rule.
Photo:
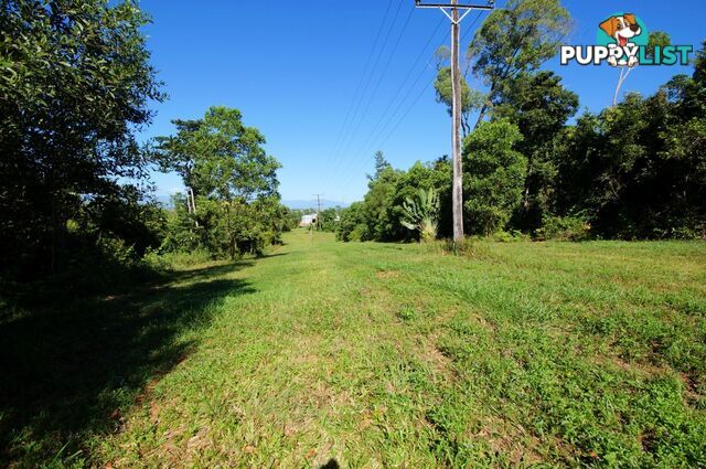
[[[0,278],[110,283],[156,253],[259,254],[279,241],[279,163],[235,109],[178,120],[141,145],[161,92],[131,1],[0,4]],[[154,202],[149,173],[175,170],[195,194]],[[189,206],[193,205],[190,204]],[[12,288],[12,287],[10,287]]]

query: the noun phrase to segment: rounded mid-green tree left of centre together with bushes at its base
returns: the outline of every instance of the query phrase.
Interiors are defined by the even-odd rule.
[[[279,204],[279,163],[265,137],[237,109],[212,107],[199,120],[175,120],[176,135],[156,139],[156,158],[194,193],[195,213],[178,199],[163,247],[205,249],[214,257],[261,254],[287,226]]]

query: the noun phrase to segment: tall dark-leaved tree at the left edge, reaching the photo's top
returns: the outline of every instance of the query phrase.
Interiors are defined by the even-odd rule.
[[[135,137],[161,100],[131,1],[0,3],[0,225],[3,263],[61,267],[82,202],[143,175]],[[44,262],[46,259],[46,262]]]

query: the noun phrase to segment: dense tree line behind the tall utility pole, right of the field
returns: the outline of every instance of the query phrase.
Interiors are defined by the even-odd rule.
[[[577,117],[578,96],[555,73],[541,70],[568,25],[557,0],[512,0],[488,18],[469,46],[467,70],[488,93],[480,97],[463,83],[467,232],[706,237],[706,42],[692,75],[675,76],[653,96],[629,94],[617,106]],[[654,41],[668,41],[653,34]],[[448,75],[440,66],[435,84],[447,106]],[[479,118],[471,129],[472,111]],[[446,159],[400,171],[378,154],[376,168],[364,200],[342,214],[341,239],[417,236],[403,225],[403,204],[431,188],[441,201],[439,235],[449,235]]]

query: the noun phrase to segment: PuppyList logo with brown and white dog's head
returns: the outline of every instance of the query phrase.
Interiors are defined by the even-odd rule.
[[[692,45],[656,45],[650,47],[650,32],[633,13],[616,13],[599,24],[598,45],[564,45],[561,65],[575,61],[579,65],[634,67],[635,65],[688,65]]]

